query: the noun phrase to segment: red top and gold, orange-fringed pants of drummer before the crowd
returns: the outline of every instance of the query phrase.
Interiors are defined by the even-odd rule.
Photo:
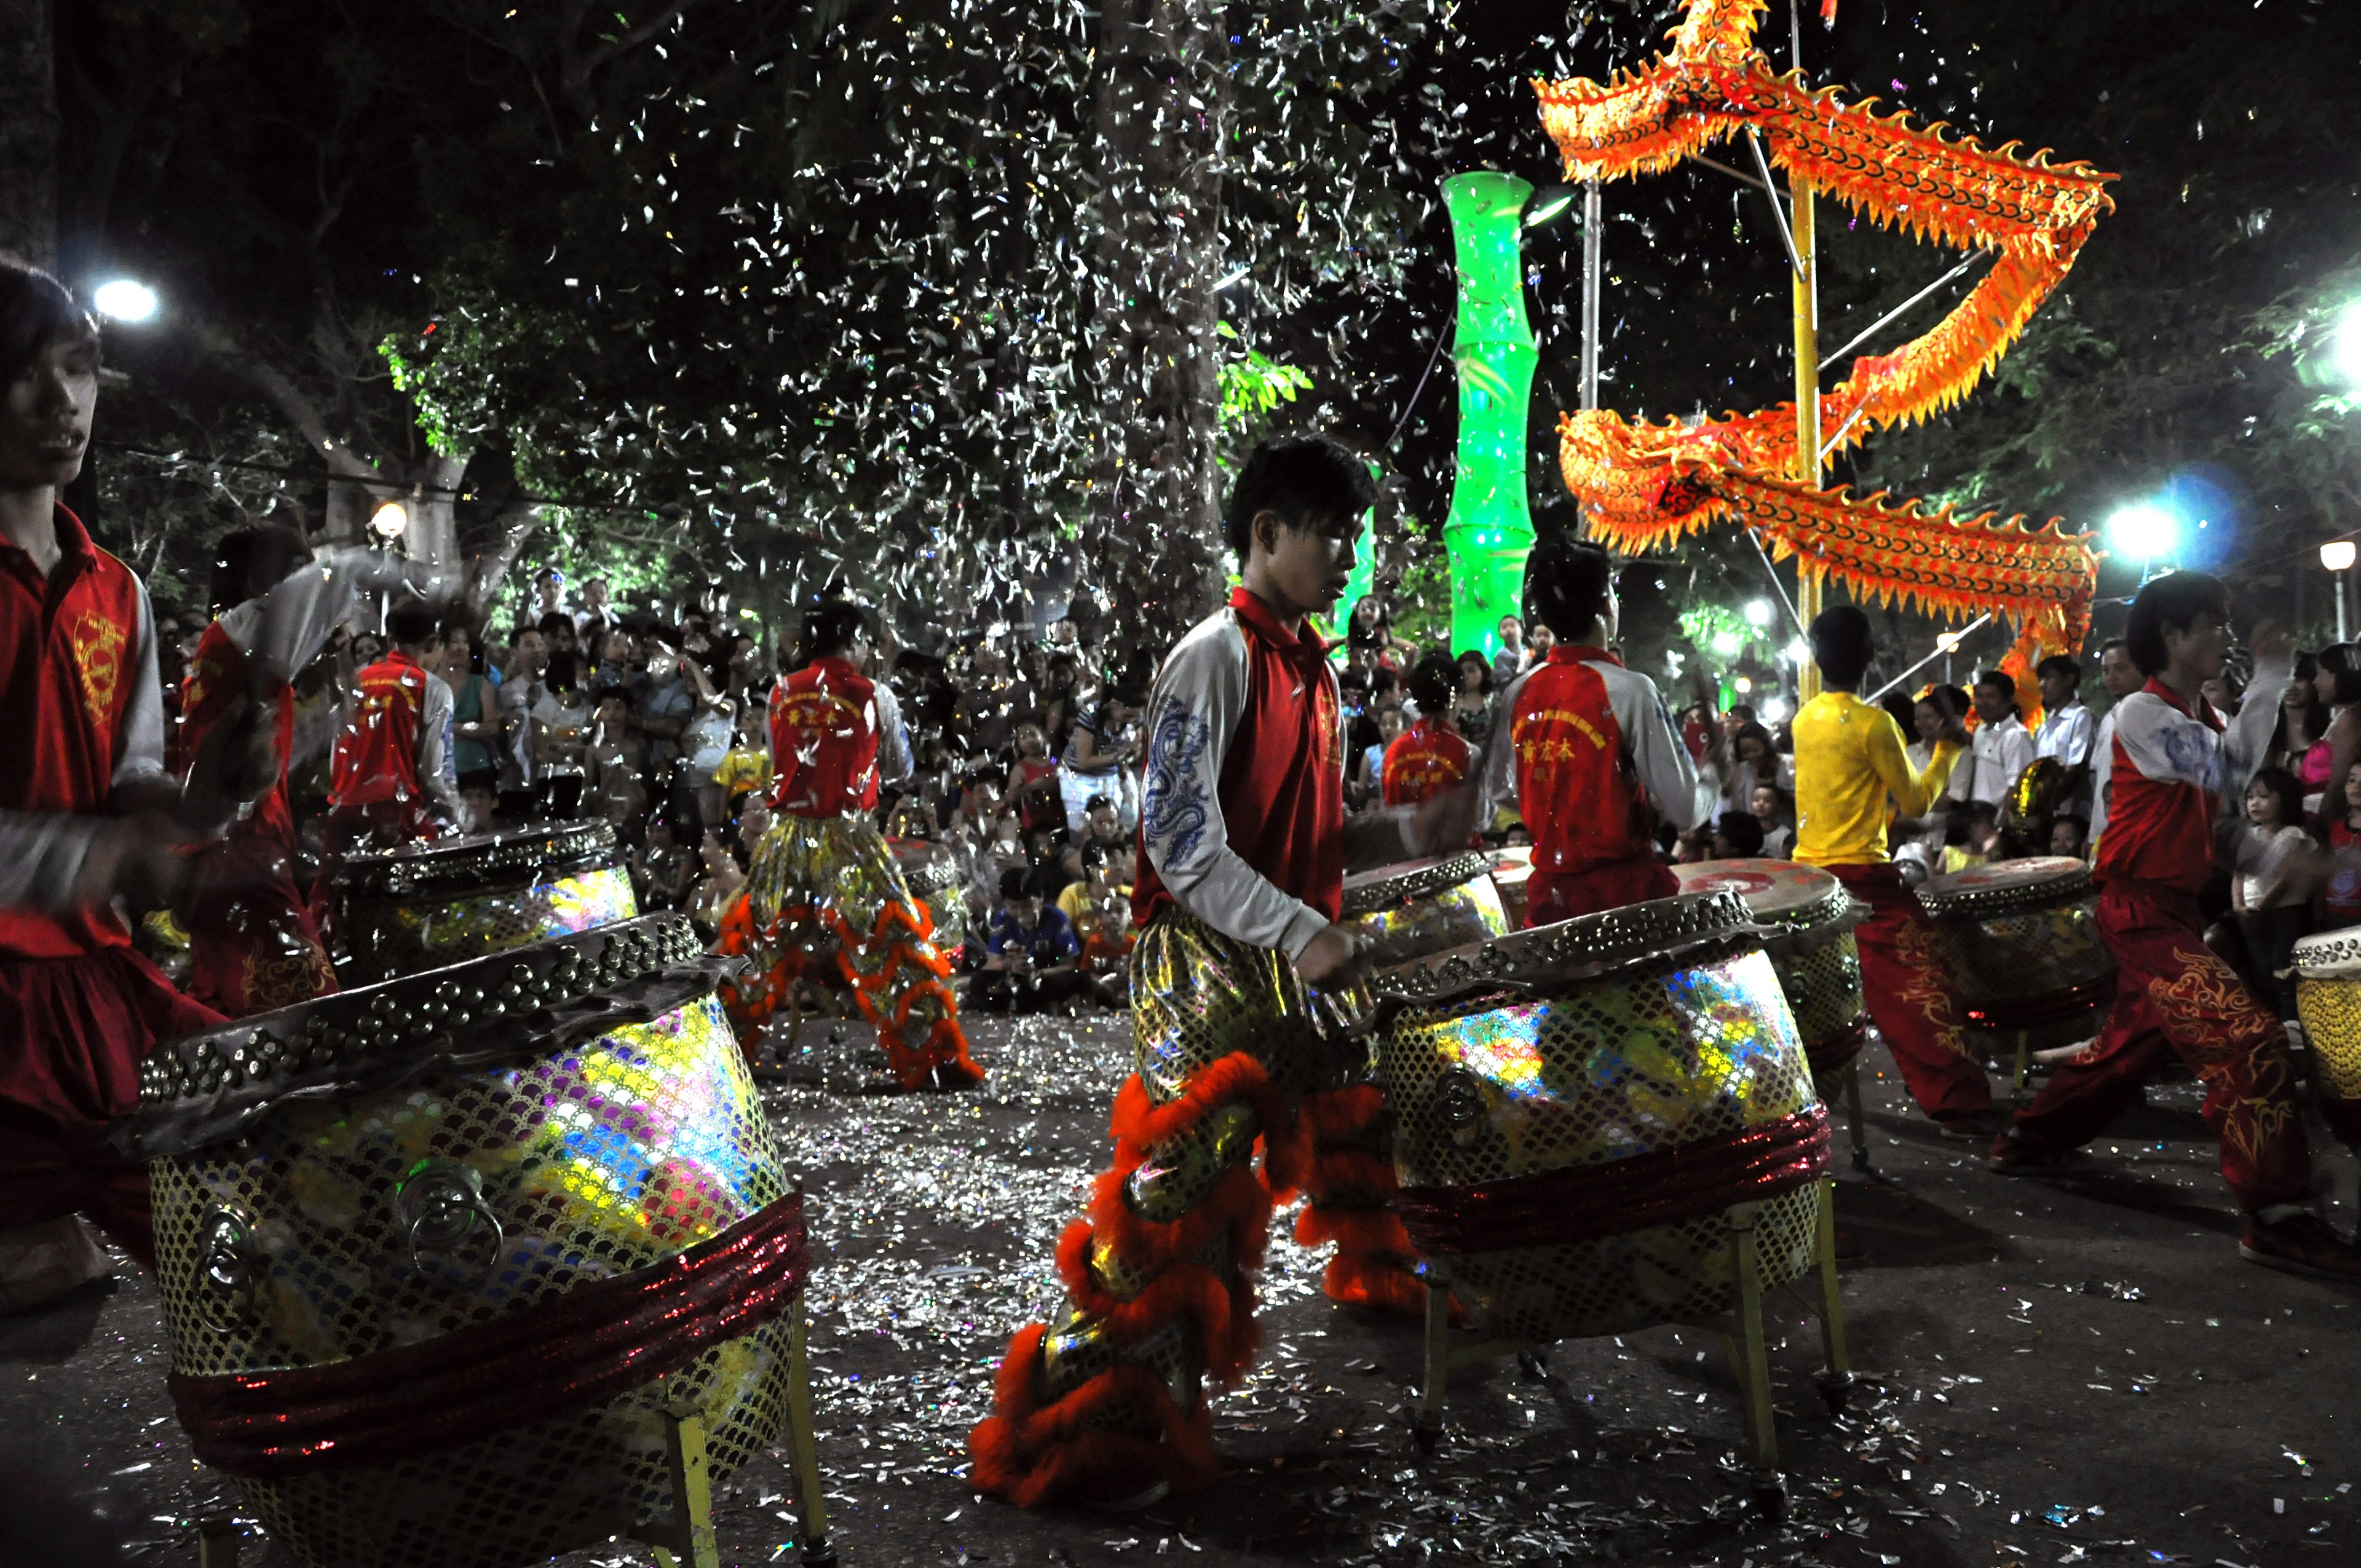
[[[824,947],[807,940],[819,926],[895,1079],[904,1089],[975,1084],[985,1070],[968,1056],[935,919],[869,819],[878,784],[911,770],[892,687],[845,659],[807,664],[772,687],[770,753],[777,822],[753,848],[746,893],[720,933],[722,952],[756,959],[753,973],[722,985],[739,1037],[751,1048],[779,1011],[805,954]]]

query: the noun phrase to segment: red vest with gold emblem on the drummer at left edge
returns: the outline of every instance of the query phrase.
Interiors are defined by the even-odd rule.
[[[139,675],[139,579],[57,508],[57,564],[42,579],[0,545],[0,808],[104,817],[116,737]],[[125,947],[113,909],[64,916],[0,909],[0,954],[73,959]]]

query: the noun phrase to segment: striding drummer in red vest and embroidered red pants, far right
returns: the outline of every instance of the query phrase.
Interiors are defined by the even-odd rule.
[[[2106,1131],[2170,1053],[2205,1084],[2205,1124],[2222,1143],[2222,1178],[2245,1211],[2238,1252],[2267,1268],[2361,1282],[2354,1247],[2304,1202],[2311,1150],[2295,1100],[2288,1032],[2205,947],[2198,893],[2215,869],[2215,834],[2234,855],[2250,843],[2224,803],[2245,796],[2276,723],[2252,701],[2224,732],[2200,687],[2231,649],[2229,590],[2203,571],[2153,579],[2125,626],[2149,685],[2115,706],[2106,838],[2099,841],[2099,935],[2120,985],[2106,1030],[2068,1058],[2040,1098],[1993,1143],[2012,1176],[2064,1164]],[[2288,671],[2257,668],[2248,690],[2276,692]]]

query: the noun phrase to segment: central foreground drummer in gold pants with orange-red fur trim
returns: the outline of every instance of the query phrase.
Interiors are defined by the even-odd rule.
[[[1147,1507],[1218,1474],[1202,1384],[1254,1353],[1251,1270],[1273,1193],[1299,1178],[1296,1110],[1334,1082],[1313,992],[1346,992],[1365,963],[1336,923],[1346,867],[1466,843],[1473,827],[1473,789],[1343,815],[1336,675],[1306,616],[1343,595],[1374,498],[1362,460],[1327,437],[1256,446],[1225,517],[1244,586],[1150,692],[1138,1072],[1114,1100],[1114,1164],[1058,1242],[1074,1315],[1011,1339],[994,1415],[968,1438],[975,1485],[1013,1502]]]

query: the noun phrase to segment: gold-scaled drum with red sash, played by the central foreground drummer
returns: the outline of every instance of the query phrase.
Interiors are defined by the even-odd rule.
[[[1827,1112],[1735,893],[1511,933],[1376,975],[1398,1209],[1497,1339],[1731,1306],[1813,1266]]]

